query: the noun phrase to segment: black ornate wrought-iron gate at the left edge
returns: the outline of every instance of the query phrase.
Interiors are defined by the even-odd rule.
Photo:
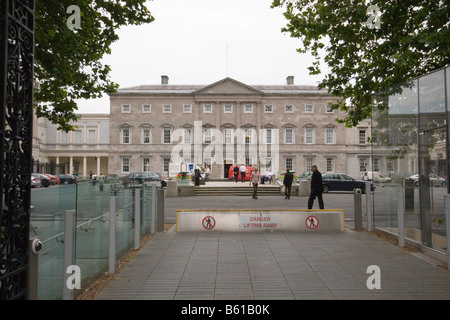
[[[27,297],[34,0],[0,1],[0,300]]]

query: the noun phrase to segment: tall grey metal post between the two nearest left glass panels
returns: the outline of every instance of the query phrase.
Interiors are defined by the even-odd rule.
[[[75,263],[75,210],[64,211],[64,277],[63,277],[63,300],[74,299],[74,289],[69,288],[67,280],[69,274],[67,268]]]

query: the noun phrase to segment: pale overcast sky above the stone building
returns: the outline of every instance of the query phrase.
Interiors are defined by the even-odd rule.
[[[160,84],[209,85],[231,77],[248,85],[316,85],[309,55],[299,40],[281,32],[287,20],[271,0],[153,0],[155,21],[124,27],[104,62],[121,88]],[[82,21],[81,21],[82,24]],[[109,97],[78,101],[80,113],[109,113]]]

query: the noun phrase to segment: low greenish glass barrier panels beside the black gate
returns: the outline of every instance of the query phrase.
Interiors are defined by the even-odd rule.
[[[33,188],[31,192],[30,238],[38,238],[43,246],[39,251],[38,299],[62,299],[64,288],[64,215],[76,211],[75,265],[80,268],[82,293],[109,265],[109,212],[111,197],[116,207],[116,259],[134,247],[135,191],[143,190],[140,198],[140,237],[150,232],[150,225],[164,219],[164,205],[152,220],[151,185],[95,184],[84,181],[69,185]],[[163,192],[159,187],[157,193]],[[159,197],[161,198],[161,197]],[[161,207],[161,206],[160,206]],[[157,207],[158,208],[158,207]],[[156,231],[160,231],[157,229]]]

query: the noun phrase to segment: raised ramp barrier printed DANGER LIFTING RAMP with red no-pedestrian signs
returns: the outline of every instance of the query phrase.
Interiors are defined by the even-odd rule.
[[[177,210],[177,232],[345,231],[344,210]]]

